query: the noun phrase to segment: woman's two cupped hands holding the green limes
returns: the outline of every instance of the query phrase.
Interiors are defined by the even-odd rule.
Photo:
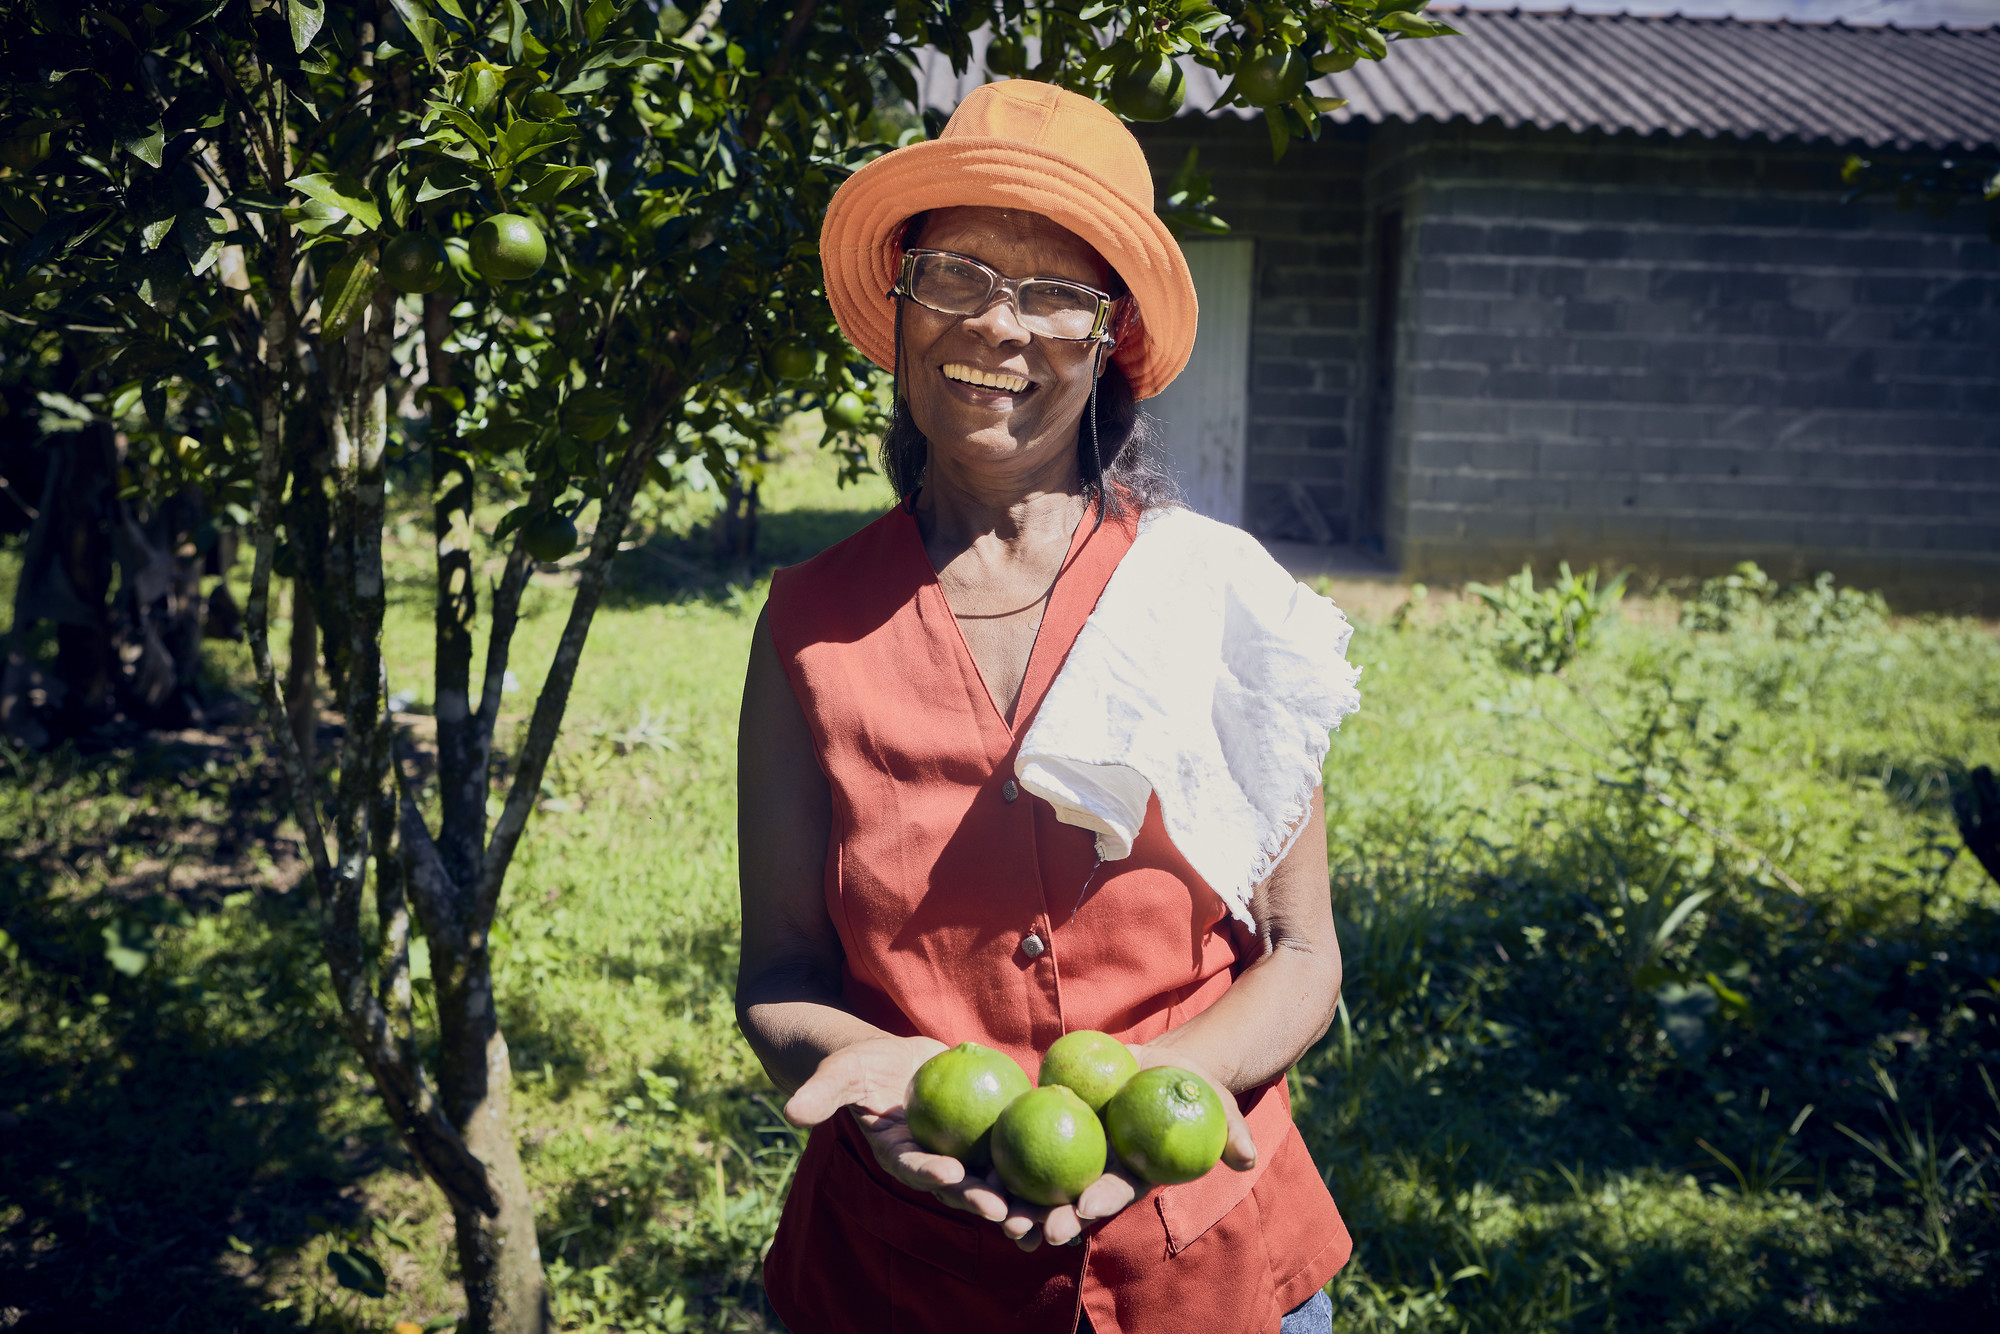
[[[1244,1122],[1236,1098],[1220,1080],[1190,1064],[1184,1054],[1130,1042],[1126,1046],[1140,1070],[1180,1066],[1208,1080],[1230,1122],[1222,1162],[1238,1172],[1256,1166],[1256,1140],[1250,1138],[1250,1126]],[[984,1176],[974,1176],[958,1158],[926,1150],[910,1134],[904,1102],[918,1066],[942,1050],[944,1044],[936,1038],[868,1038],[844,1046],[828,1054],[812,1078],[800,1084],[798,1092],[784,1104],[784,1116],[794,1126],[818,1126],[840,1108],[848,1108],[868,1138],[876,1162],[890,1178],[912,1190],[930,1192],[950,1208],[1000,1224],[1000,1230],[1022,1250],[1034,1250],[1042,1242],[1050,1246],[1078,1242],[1092,1222],[1112,1218],[1152,1190],[1146,1180],[1126,1172],[1112,1158],[1104,1176],[1086,1186],[1072,1204],[1044,1208],[1010,1196],[998,1172],[988,1170]]]

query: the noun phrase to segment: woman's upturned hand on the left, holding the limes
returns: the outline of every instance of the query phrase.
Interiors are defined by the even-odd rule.
[[[826,1056],[798,1086],[784,1116],[794,1126],[818,1126],[848,1108],[868,1136],[876,1162],[912,1190],[928,1190],[952,1208],[988,1222],[1008,1216],[1006,1196],[992,1178],[966,1176],[966,1164],[932,1154],[910,1134],[904,1098],[916,1068],[944,1050],[936,1038],[868,1038]]]

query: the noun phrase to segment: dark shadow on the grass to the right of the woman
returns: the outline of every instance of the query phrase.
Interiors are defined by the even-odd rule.
[[[2000,914],[1716,878],[1640,952],[1600,840],[1336,880],[1296,1118],[1356,1236],[1340,1328],[2000,1328]]]

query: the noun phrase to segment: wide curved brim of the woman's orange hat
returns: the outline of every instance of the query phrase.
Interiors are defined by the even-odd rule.
[[[1194,352],[1194,276],[1152,208],[1074,162],[1006,138],[940,138],[886,152],[834,194],[820,228],[826,300],[840,332],[884,370],[896,360],[898,232],[932,208],[1020,208],[1096,246],[1138,304],[1112,352],[1138,398],[1164,390]]]

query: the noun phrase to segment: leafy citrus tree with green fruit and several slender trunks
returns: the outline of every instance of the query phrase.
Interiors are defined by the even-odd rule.
[[[846,174],[918,124],[916,52],[964,68],[990,26],[994,74],[1132,118],[1178,110],[1174,62],[1200,60],[1282,150],[1328,108],[1308,70],[1446,32],[1422,0],[686,2],[36,0],[0,28],[8,364],[64,368],[42,402],[90,430],[52,448],[114,440],[126,494],[192,490],[246,530],[244,626],[332,988],[450,1200],[472,1330],[550,1324],[490,928],[610,562],[642,486],[696,456],[732,476],[794,410],[824,406],[864,466],[886,404],[814,244]],[[1190,166],[1166,206],[1198,222],[1198,196]],[[386,708],[392,458],[430,478],[434,788]],[[506,502],[484,534],[482,496]],[[506,552],[484,588],[482,540]],[[522,594],[554,562],[568,620],[490,818]],[[322,670],[342,724],[324,766]]]

